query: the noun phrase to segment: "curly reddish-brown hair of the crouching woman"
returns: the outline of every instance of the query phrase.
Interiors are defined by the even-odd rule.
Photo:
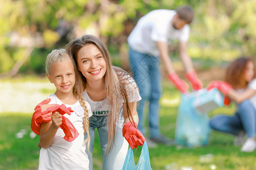
[[[225,80],[233,88],[241,88],[241,86],[246,87],[249,83],[244,82],[242,78],[242,76],[245,74],[246,65],[248,62],[253,62],[253,59],[250,57],[239,57],[229,64],[226,70]]]

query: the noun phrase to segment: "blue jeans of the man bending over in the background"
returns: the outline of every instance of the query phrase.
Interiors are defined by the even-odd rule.
[[[159,99],[162,91],[159,57],[139,53],[130,47],[129,59],[131,71],[139,87],[139,94],[142,97],[137,108],[139,116],[138,129],[142,134],[145,134],[144,105],[146,101],[149,101],[148,124],[150,137],[159,137]]]

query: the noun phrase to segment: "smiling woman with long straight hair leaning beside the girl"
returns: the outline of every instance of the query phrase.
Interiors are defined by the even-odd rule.
[[[108,49],[95,36],[84,35],[75,39],[66,49],[76,61],[83,83],[81,91],[92,107],[93,116],[89,118],[90,169],[93,169],[96,128],[103,156],[102,169],[122,169],[128,143],[135,148],[145,141],[141,131],[137,130],[136,105],[141,100],[137,84],[126,71],[112,66]]]

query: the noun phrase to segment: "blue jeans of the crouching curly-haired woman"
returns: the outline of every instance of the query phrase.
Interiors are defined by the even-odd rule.
[[[233,116],[215,116],[210,120],[210,127],[233,135],[243,130],[247,137],[255,137],[256,109],[249,100],[242,101],[238,104],[237,112]]]

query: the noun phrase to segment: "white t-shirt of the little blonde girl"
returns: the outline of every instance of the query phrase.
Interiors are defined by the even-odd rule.
[[[55,94],[52,94],[49,104],[64,104]],[[85,101],[88,108],[89,116],[92,116],[90,105]],[[74,112],[71,115],[64,114],[69,121],[75,126],[79,132],[79,136],[72,142],[65,141],[64,132],[59,128],[55,134],[52,145],[48,148],[41,148],[39,156],[38,169],[89,169],[89,159],[86,155],[84,143],[84,128],[82,122],[84,120],[84,109],[81,107],[79,101],[73,105],[65,104],[71,107]]]

